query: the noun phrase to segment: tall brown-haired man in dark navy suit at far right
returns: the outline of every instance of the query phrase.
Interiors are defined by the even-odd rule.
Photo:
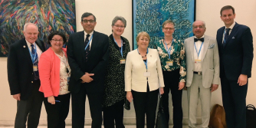
[[[251,30],[234,22],[235,9],[230,5],[221,9],[221,18],[225,26],[218,29],[217,41],[226,122],[228,128],[245,128],[246,94],[253,59]]]

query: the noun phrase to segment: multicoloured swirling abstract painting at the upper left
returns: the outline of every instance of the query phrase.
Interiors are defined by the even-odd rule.
[[[38,25],[38,38],[49,48],[51,31],[62,31],[67,38],[76,31],[75,0],[0,0],[0,57],[8,55],[10,44],[24,38],[27,22]]]

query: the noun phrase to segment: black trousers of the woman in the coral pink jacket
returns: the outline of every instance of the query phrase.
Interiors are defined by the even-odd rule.
[[[64,94],[54,97],[55,100],[61,102],[55,102],[55,104],[48,103],[48,97],[44,98],[44,106],[47,113],[48,128],[64,128],[65,120],[69,111],[69,104],[71,100],[71,94]]]

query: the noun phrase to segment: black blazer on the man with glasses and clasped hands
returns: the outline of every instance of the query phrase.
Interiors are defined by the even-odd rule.
[[[71,67],[69,90],[77,93],[80,90],[80,77],[85,72],[94,74],[94,80],[86,83],[90,93],[103,91],[104,77],[109,60],[109,40],[107,34],[94,31],[90,52],[85,61],[84,31],[71,34],[67,42],[67,57]]]

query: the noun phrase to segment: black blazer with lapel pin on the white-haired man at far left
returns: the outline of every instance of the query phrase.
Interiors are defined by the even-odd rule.
[[[45,51],[42,41],[35,41],[35,43],[42,52]],[[7,70],[11,95],[21,94],[21,100],[27,100],[32,93],[34,75],[33,64],[25,38],[10,45]]]

